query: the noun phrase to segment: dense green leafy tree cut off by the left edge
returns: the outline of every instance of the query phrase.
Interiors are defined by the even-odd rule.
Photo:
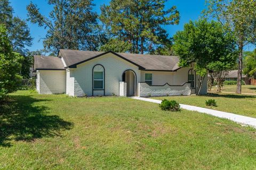
[[[0,101],[17,90],[22,60],[20,54],[13,52],[6,28],[0,25]]]

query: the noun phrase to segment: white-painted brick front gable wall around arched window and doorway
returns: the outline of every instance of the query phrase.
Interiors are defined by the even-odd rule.
[[[105,67],[105,95],[119,95],[119,82],[122,81],[122,74],[126,70],[133,70],[137,75],[137,82],[140,81],[138,66],[109,53],[70,69],[70,78],[74,78],[74,96],[92,95],[92,69],[97,64]],[[67,79],[67,81],[70,80]],[[138,94],[138,83],[136,89]],[[99,90],[94,90],[93,93],[94,95],[103,95],[103,91]]]

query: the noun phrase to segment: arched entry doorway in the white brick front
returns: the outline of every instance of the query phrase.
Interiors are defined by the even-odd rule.
[[[133,70],[123,72],[122,81],[126,82],[126,95],[136,96],[137,75]]]

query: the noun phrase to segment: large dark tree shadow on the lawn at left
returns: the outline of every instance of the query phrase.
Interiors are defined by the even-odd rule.
[[[33,141],[42,137],[61,136],[73,123],[57,115],[47,115],[47,107],[35,103],[47,101],[30,96],[13,96],[0,104],[0,146],[10,147],[10,140]]]

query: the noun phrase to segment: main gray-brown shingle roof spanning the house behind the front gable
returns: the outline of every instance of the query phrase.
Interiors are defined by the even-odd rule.
[[[67,66],[71,67],[92,60],[93,58],[106,53],[116,54],[124,60],[139,66],[142,70],[175,71],[180,69],[180,67],[178,66],[179,57],[177,56],[143,55],[114,52],[91,52],[69,49],[60,49],[59,56],[62,56]]]

